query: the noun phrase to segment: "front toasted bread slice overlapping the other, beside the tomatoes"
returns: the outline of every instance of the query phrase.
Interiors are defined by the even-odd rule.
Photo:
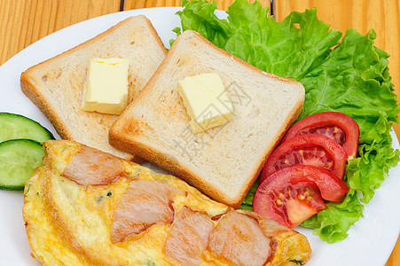
[[[224,126],[193,134],[176,84],[216,71],[233,104]],[[109,143],[150,160],[214,200],[239,207],[271,151],[302,111],[304,88],[185,31],[142,93],[110,129]],[[206,112],[207,110],[205,110]]]

